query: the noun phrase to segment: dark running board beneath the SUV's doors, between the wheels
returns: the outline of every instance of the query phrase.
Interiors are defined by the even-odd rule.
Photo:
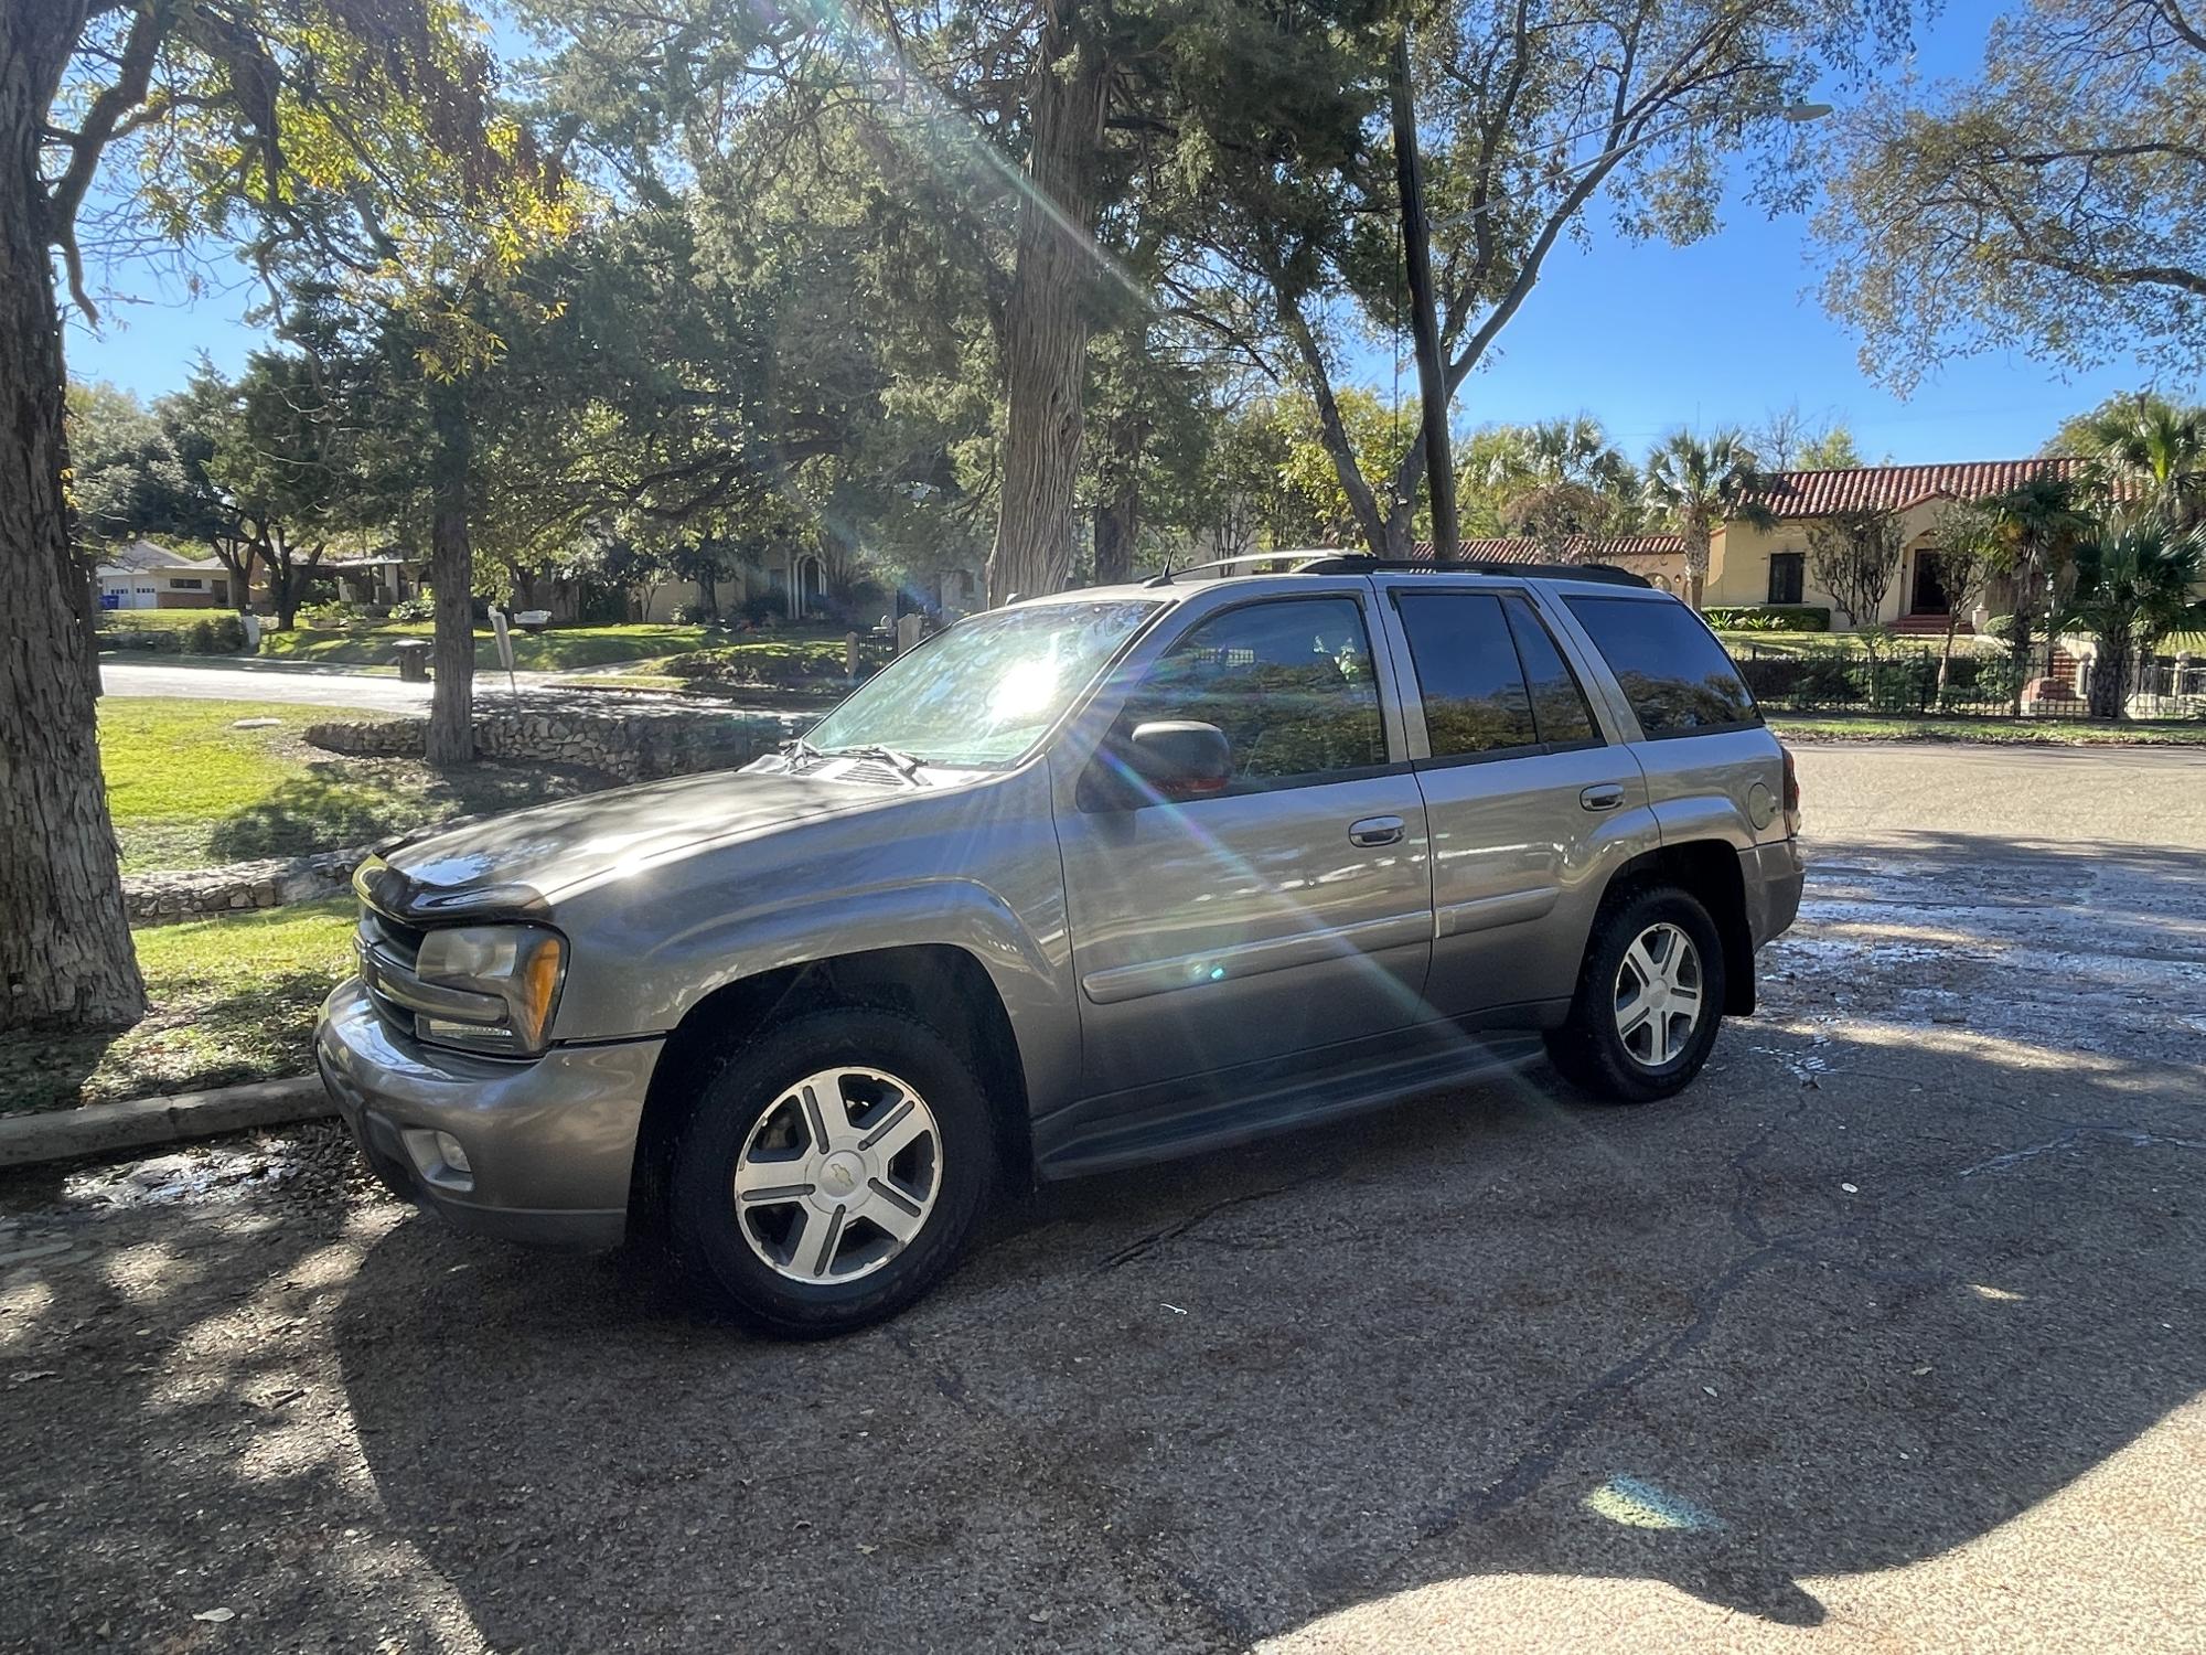
[[[1220,1077],[1191,1075],[1174,1086],[1081,1099],[1035,1121],[1035,1172],[1079,1178],[1319,1125],[1443,1086],[1493,1079],[1542,1057],[1540,1035],[1456,1033],[1441,1050],[1337,1066],[1319,1075],[1273,1077],[1257,1090],[1216,1095]],[[1271,1068],[1271,1066],[1266,1066]],[[1211,1086],[1204,1086],[1211,1081]]]

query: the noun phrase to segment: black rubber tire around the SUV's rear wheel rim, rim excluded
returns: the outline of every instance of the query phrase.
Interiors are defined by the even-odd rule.
[[[1701,1017],[1663,1064],[1632,1053],[1617,1028],[1624,955],[1650,927],[1674,925],[1699,955]],[[1566,1081],[1604,1103],[1654,1103],[1683,1092],[1723,1024],[1723,938],[1701,900],[1677,885],[1639,885],[1610,896],[1586,940],[1571,1017],[1546,1033],[1546,1055]]]

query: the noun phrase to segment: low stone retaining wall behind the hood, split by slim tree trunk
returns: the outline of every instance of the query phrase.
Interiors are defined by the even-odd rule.
[[[730,715],[690,706],[523,702],[476,708],[474,750],[483,759],[578,764],[622,781],[657,781],[750,764],[812,722],[803,713]],[[307,741],[355,759],[419,759],[428,750],[428,719],[311,724]]]

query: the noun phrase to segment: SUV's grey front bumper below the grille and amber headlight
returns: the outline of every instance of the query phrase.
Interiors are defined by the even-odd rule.
[[[543,1247],[618,1247],[660,1037],[554,1046],[514,1064],[421,1046],[349,978],[322,1004],[315,1061],[377,1176],[461,1229]],[[454,1174],[430,1134],[468,1156]]]

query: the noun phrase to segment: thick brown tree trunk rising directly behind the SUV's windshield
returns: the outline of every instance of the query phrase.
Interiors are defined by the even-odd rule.
[[[1110,66],[1054,0],[1030,77],[1032,148],[1004,307],[1004,496],[988,554],[988,602],[1061,591],[1072,574],[1072,483],[1081,463],[1096,161]]]

